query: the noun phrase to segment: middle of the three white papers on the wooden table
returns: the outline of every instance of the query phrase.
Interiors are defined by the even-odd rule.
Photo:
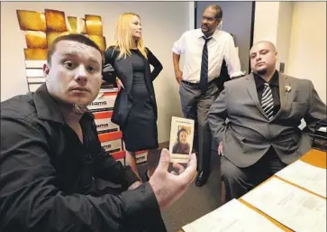
[[[326,200],[276,177],[241,199],[296,232],[326,232]]]

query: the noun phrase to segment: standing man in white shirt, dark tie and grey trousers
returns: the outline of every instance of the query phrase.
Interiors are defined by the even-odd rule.
[[[212,135],[207,113],[219,95],[214,80],[220,75],[223,60],[226,60],[231,78],[243,74],[232,35],[216,30],[222,18],[223,10],[219,5],[208,5],[204,9],[201,28],[184,32],[173,46],[174,70],[180,85],[183,114],[197,122],[194,149],[199,153],[195,181],[198,187],[205,184],[210,172]],[[179,69],[181,54],[185,56],[183,71]]]

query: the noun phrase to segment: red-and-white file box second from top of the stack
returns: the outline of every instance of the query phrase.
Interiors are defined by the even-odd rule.
[[[111,121],[113,111],[94,112],[93,115],[98,134],[119,131],[119,125]]]

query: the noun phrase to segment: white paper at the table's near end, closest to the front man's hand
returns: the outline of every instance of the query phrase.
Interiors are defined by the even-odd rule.
[[[183,227],[185,232],[282,232],[281,228],[256,211],[231,200],[221,208]]]

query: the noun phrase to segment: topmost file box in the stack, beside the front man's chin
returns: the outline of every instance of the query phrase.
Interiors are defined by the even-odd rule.
[[[116,91],[110,89],[101,89],[95,100],[87,107],[92,112],[113,110],[116,97]]]

